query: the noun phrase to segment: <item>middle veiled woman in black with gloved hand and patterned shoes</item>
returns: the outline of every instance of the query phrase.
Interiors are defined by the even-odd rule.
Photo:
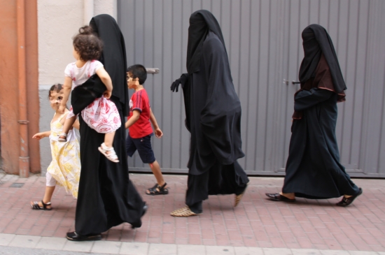
[[[235,194],[235,206],[248,177],[237,159],[241,150],[241,103],[235,93],[221,27],[208,10],[190,16],[187,71],[172,85],[183,87],[186,127],[191,133],[186,207],[175,217],[202,213],[208,195]]]

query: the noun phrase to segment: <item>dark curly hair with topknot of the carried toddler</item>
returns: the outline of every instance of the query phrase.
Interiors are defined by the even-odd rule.
[[[99,59],[103,50],[103,42],[94,34],[92,27],[80,27],[79,34],[73,37],[73,48],[83,61]]]

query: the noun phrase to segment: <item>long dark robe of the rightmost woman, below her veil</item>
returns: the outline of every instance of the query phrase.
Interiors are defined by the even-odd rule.
[[[339,163],[335,126],[337,94],[325,89],[303,90],[295,96],[302,111],[291,127],[283,193],[304,198],[337,198],[358,194],[358,187]]]

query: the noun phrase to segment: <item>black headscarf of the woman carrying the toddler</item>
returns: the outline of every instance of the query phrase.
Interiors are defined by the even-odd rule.
[[[126,78],[127,58],[123,34],[116,20],[108,14],[92,17],[90,26],[104,43],[99,61],[104,64],[104,68],[111,76],[112,96],[116,96],[123,104],[123,115],[127,116],[129,98]]]

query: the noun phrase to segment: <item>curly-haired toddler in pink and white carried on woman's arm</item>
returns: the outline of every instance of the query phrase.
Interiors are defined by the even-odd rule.
[[[73,38],[73,57],[76,62],[68,64],[64,71],[64,99],[59,107],[59,112],[64,112],[71,89],[82,85],[96,73],[106,85],[107,90],[102,97],[95,99],[82,110],[81,117],[92,129],[98,133],[106,134],[99,151],[107,159],[119,162],[118,156],[113,150],[113,138],[115,131],[121,126],[121,121],[118,108],[113,101],[109,100],[113,89],[110,75],[104,69],[103,64],[97,61],[102,54],[102,47],[102,41],[93,34],[91,27],[85,26],[79,29],[79,34]],[[59,134],[59,141],[66,141],[68,131],[76,117],[71,108],[64,122],[63,132]]]

